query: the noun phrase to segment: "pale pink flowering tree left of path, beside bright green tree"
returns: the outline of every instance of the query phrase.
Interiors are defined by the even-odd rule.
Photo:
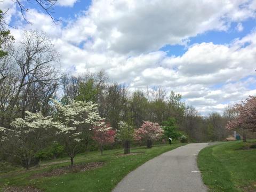
[[[144,121],[141,127],[134,132],[134,139],[137,141],[147,141],[147,148],[152,147],[152,141],[159,139],[163,135],[163,129],[158,123]]]

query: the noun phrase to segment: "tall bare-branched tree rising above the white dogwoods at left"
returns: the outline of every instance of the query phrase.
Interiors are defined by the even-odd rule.
[[[54,85],[51,92],[55,91],[62,76],[56,67],[58,53],[44,33],[25,31],[23,42],[10,54],[13,65],[17,66],[15,70],[19,70],[19,82],[8,106],[8,112],[12,114],[15,107],[20,107],[21,117],[24,117],[25,110],[30,110],[27,101],[29,94],[35,91],[33,89],[40,90],[39,86],[43,89],[47,84]]]

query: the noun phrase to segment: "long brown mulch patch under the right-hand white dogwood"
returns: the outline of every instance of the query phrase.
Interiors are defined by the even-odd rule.
[[[104,162],[93,162],[93,163],[76,164],[76,165],[73,165],[73,167],[65,166],[65,167],[53,169],[49,172],[36,173],[33,175],[32,179],[41,178],[41,177],[60,176],[63,174],[75,173],[75,172],[80,172],[80,171],[88,171],[88,170],[96,169],[98,167],[102,167],[103,165],[105,165]]]

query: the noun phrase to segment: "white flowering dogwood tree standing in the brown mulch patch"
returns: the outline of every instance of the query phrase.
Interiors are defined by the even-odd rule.
[[[73,166],[74,157],[92,134],[93,126],[100,125],[103,118],[98,113],[97,104],[92,102],[73,100],[69,105],[63,105],[57,100],[52,101],[57,110],[58,137]]]

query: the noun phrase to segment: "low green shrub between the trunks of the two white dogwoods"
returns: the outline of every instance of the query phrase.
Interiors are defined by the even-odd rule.
[[[39,151],[35,156],[39,159],[55,159],[64,154],[65,147],[60,145],[58,142],[53,142],[52,145]]]

